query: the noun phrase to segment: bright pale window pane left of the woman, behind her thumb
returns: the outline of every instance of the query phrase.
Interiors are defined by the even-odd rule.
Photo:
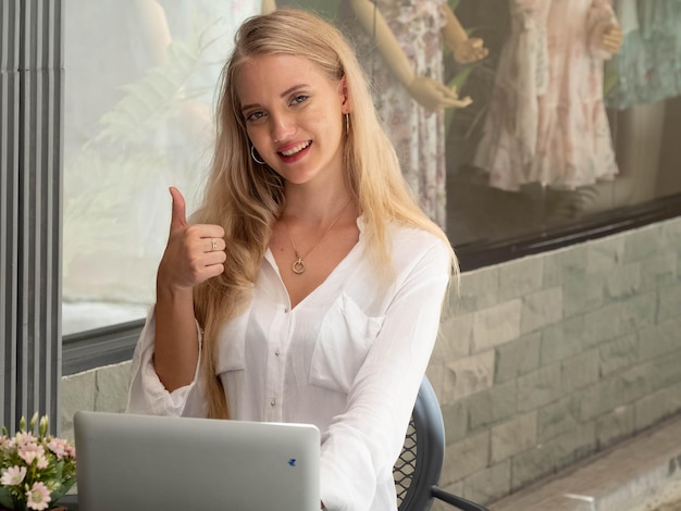
[[[256,2],[66,2],[63,334],[144,316],[170,223],[191,211],[213,91]]]

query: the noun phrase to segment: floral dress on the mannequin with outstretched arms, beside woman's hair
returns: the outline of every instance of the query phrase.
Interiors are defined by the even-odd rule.
[[[446,0],[377,0],[375,4],[416,75],[443,82],[442,28],[446,24]],[[409,96],[375,49],[371,35],[361,30],[347,2],[340,5],[339,20],[344,32],[357,45],[403,174],[425,213],[444,228],[447,214],[444,112],[429,112]]]

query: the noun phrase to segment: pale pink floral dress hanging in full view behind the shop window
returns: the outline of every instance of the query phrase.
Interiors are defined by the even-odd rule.
[[[603,102],[606,0],[511,0],[511,34],[473,164],[490,186],[575,189],[618,167]]]

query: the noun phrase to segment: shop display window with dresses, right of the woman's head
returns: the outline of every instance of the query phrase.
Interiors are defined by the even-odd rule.
[[[340,1],[338,23],[405,175],[455,247],[681,192],[678,0],[372,3],[368,17]],[[456,87],[470,104],[424,108],[423,91],[393,73],[381,20],[416,76]],[[475,54],[480,45],[486,54]]]

